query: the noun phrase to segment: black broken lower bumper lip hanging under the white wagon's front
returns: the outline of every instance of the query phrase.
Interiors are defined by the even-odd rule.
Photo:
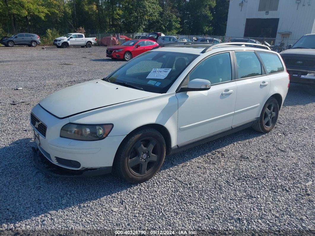
[[[112,172],[112,166],[102,168],[85,168],[82,170],[71,170],[51,163],[38,148],[32,147],[33,164],[45,174],[61,177],[90,177],[105,175]]]

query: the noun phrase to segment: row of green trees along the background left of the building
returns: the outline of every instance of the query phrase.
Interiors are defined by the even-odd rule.
[[[224,35],[229,0],[0,0],[0,35],[159,31]]]

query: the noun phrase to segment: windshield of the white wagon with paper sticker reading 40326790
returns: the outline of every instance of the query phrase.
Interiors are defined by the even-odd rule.
[[[197,57],[195,54],[148,51],[126,63],[106,80],[127,83],[147,92],[166,93],[180,73]]]

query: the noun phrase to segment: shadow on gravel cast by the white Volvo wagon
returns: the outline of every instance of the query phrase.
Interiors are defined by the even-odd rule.
[[[165,158],[160,171],[211,153],[234,142],[245,141],[262,134],[246,129]],[[43,214],[70,208],[101,198],[117,198],[115,193],[128,191],[135,185],[118,179],[115,174],[89,178],[55,177],[39,172],[32,163],[36,143],[29,138],[14,141],[0,148],[0,224],[16,223]],[[123,202],[124,199],[121,199]],[[110,205],[101,207],[110,209]]]

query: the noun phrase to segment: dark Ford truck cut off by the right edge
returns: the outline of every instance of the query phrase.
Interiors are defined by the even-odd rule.
[[[280,53],[291,83],[315,84],[315,34],[306,34]]]

